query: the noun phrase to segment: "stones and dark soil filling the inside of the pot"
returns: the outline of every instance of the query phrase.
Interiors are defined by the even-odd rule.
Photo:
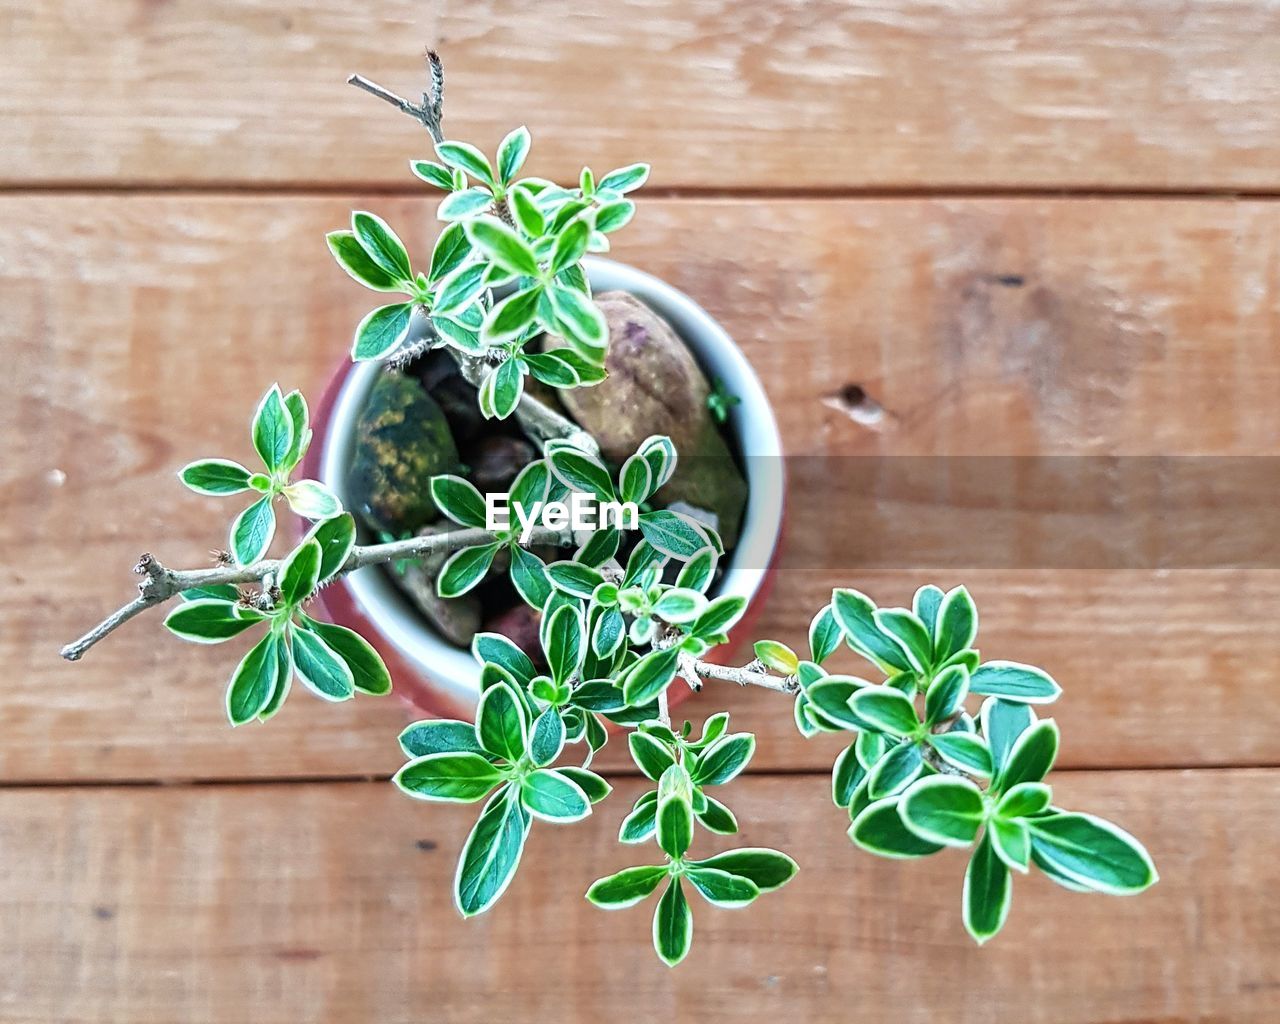
[[[737,541],[748,486],[740,453],[713,413],[724,396],[713,398],[712,384],[689,347],[640,300],[626,292],[602,292],[595,301],[609,326],[608,378],[567,392],[529,378],[526,388],[590,431],[613,471],[645,438],[671,436],[680,454],[676,474],[648,507],[673,508],[707,522],[719,531],[728,553]],[[558,339],[545,342],[550,347]],[[456,529],[431,502],[431,476],[452,472],[481,493],[504,492],[538,457],[538,445],[516,419],[485,420],[475,388],[453,358],[431,351],[389,367],[361,410],[347,481],[349,503],[361,525],[384,540]],[[634,544],[632,534],[618,552],[622,563]],[[570,554],[535,553],[547,562]],[[539,613],[516,593],[504,562],[495,562],[475,590],[445,599],[435,593],[435,576],[445,558],[383,571],[449,643],[465,648],[479,630],[500,632],[536,662],[541,655]]]

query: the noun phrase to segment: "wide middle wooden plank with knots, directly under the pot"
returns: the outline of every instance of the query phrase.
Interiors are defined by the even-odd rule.
[[[387,197],[0,200],[0,351],[12,367],[0,380],[4,778],[397,765],[408,714],[394,701],[333,708],[300,694],[269,726],[233,733],[221,691],[234,654],[180,645],[155,617],[81,664],[55,655],[128,595],[142,549],[198,564],[221,543],[229,507],[184,493],[174,468],[250,458],[246,424],[264,385],[315,396],[343,360],[371,298],[321,238],[353,205],[425,246],[429,209]],[[618,256],[724,323],[794,456],[1251,456],[1280,440],[1277,227],[1270,202],[660,201],[641,209]],[[676,237],[698,246],[673,248]],[[998,283],[1010,274],[1023,285]],[[881,424],[823,402],[844,383],[888,410]],[[801,644],[833,585],[904,602],[929,575],[966,580],[988,657],[1043,664],[1066,687],[1065,763],[1280,760],[1267,710],[1280,635],[1258,625],[1280,608],[1275,568],[864,570],[804,527],[849,522],[855,497],[791,495],[762,634]],[[1053,521],[1046,513],[1076,511],[1070,494],[1012,499],[1027,538]],[[964,494],[936,500],[869,495],[877,515],[854,532],[874,553],[923,512],[984,529]],[[836,746],[800,741],[776,696],[707,696],[700,713],[713,700],[759,730],[759,767],[829,765]]]

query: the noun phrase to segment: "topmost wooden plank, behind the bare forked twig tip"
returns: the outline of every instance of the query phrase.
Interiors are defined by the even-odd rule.
[[[646,159],[699,188],[1280,187],[1280,12],[1124,4],[90,0],[4,5],[0,182],[412,188],[412,96],[520,123],[531,169]],[[554,26],[549,31],[549,26]]]

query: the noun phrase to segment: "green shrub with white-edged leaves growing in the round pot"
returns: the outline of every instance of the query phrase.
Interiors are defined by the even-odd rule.
[[[611,338],[600,308],[604,289],[621,285],[646,300],[659,291],[634,271],[584,262],[630,219],[627,196],[646,168],[623,168],[599,182],[584,173],[577,188],[518,179],[527,133],[511,133],[495,163],[445,140],[443,72],[434,54],[429,60],[431,84],[421,104],[353,79],[431,133],[439,159],[417,161],[415,172],[448,193],[440,206],[447,227],[428,270],[415,270],[396,234],[372,214],[357,214],[351,232],[330,236],[330,248],[352,276],[402,297],[375,308],[356,330],[353,355],[366,365],[333,402],[324,457],[308,461],[312,428],[303,397],[269,389],[251,426],[260,471],[225,460],[201,460],[182,471],[187,486],[201,493],[250,495],[232,524],[230,550],[201,570],[172,570],[142,556],[138,596],[63,655],[76,660],[128,620],[178,599],[165,625],[183,639],[216,644],[252,634],[253,645],[228,684],[228,716],[233,724],[268,721],[294,680],[330,701],[392,689],[392,673],[370,637],[320,617],[317,594],[323,598],[335,581],[372,566],[434,559],[436,594],[454,599],[500,576],[535,609],[532,636],[521,645],[493,630],[475,632],[474,721],[434,718],[406,728],[399,742],[407,760],[394,785],[424,801],[483,801],[454,882],[457,908],[474,915],[511,884],[535,820],[580,820],[608,797],[609,783],[591,771],[591,759],[609,740],[605,723],[625,730],[632,759],[654,785],[618,814],[620,841],[658,849],[645,864],[598,879],[586,896],[612,909],[662,890],[653,940],[668,965],[690,948],[690,895],[716,906],[745,906],[796,872],[795,861],[774,850],[701,852],[699,833],[737,831],[719,787],[746,767],[755,748],[751,733],[730,731],[727,713],[710,714],[699,728],[672,719],[675,695],[707,682],[764,687],[786,701],[782,713],[794,716],[805,736],[847,736],[833,765],[832,797],[849,814],[855,845],[900,859],[945,846],[970,849],[961,908],[978,942],[1002,927],[1012,876],[1033,867],[1076,891],[1133,893],[1151,886],[1155,867],[1133,836],[1053,803],[1044,778],[1059,731],[1036,709],[1056,700],[1060,687],[1038,668],[982,659],[978,612],[963,586],[947,593],[922,586],[909,608],[879,608],[860,591],[840,588],[815,609],[801,650],[763,639],[745,664],[713,660],[741,630],[753,593],[732,572],[722,575],[731,554],[718,527],[730,526],[730,518],[712,522],[705,508],[680,507],[664,494],[687,454],[667,433],[653,430],[620,449],[616,420],[589,422],[582,412],[591,389],[600,393],[616,370],[611,346],[620,339]],[[677,307],[685,301],[663,296],[653,300],[659,312],[698,347],[698,330],[680,323]],[[723,356],[731,348],[716,351]],[[719,369],[710,348],[698,355]],[[356,504],[369,503],[369,493],[344,484],[340,470],[358,462],[356,420],[372,389],[394,379],[375,364],[394,362],[396,375],[404,378],[440,374],[442,357],[449,360],[444,370],[456,367],[475,389],[486,424],[513,419],[536,438],[539,451],[511,472],[508,499],[494,502],[456,465],[430,465],[448,454],[442,434],[412,453],[396,431],[379,435],[387,458],[372,475],[422,481],[387,499],[416,502],[452,525],[362,540],[344,503],[375,521],[381,508]],[[755,402],[751,380],[740,374],[735,384]],[[535,381],[558,390],[563,410]],[[650,389],[680,396],[686,384],[668,370]],[[384,425],[415,424],[422,406],[413,392],[387,408],[394,416]],[[754,443],[742,433],[736,439],[744,451]],[[412,465],[403,468],[398,460]],[[308,475],[306,467],[317,472]],[[753,495],[763,489],[758,483],[751,481]],[[310,526],[283,558],[270,558],[282,503]],[[630,521],[570,513],[614,506],[621,516],[627,504]],[[744,536],[753,515],[749,509]],[[760,536],[762,550],[772,549],[773,534]],[[385,617],[371,607],[375,618]],[[367,625],[392,632],[385,621]],[[844,649],[867,663],[870,677],[824,667]]]

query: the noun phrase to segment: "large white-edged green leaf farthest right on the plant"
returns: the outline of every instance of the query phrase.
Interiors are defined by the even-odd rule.
[[[1064,812],[1027,822],[1037,863],[1044,861],[1094,892],[1125,896],[1158,879],[1143,845],[1123,828],[1092,814]]]

